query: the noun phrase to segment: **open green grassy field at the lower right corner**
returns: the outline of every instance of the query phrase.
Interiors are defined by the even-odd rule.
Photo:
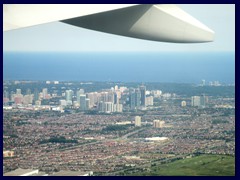
[[[135,176],[234,176],[235,157],[227,155],[201,155],[177,160],[151,168]]]

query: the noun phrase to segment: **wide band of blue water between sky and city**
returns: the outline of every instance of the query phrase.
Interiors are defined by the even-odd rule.
[[[235,82],[234,53],[4,53],[4,80]]]

